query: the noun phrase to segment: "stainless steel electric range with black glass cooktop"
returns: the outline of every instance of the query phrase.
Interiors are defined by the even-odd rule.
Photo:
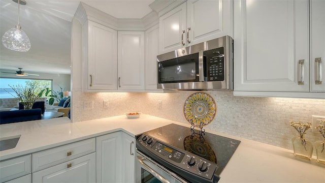
[[[136,182],[218,182],[240,141],[170,124],[137,135]]]

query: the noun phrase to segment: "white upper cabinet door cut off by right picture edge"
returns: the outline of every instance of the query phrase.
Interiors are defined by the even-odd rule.
[[[325,92],[325,1],[310,1],[311,91]],[[317,62],[316,62],[317,61]],[[318,82],[316,82],[318,81]],[[321,82],[319,82],[321,81]]]

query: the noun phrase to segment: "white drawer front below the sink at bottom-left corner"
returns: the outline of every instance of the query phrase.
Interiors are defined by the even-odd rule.
[[[30,155],[0,162],[0,182],[31,173]]]

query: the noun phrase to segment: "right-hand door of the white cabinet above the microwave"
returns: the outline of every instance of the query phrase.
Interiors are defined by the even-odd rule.
[[[233,37],[233,1],[188,0],[186,42],[189,45],[229,35]]]

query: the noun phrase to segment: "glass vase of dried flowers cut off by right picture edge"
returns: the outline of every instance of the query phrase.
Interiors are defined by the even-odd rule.
[[[320,120],[320,123],[315,128],[323,137],[322,141],[320,140],[315,142],[317,162],[325,165],[325,120]]]

